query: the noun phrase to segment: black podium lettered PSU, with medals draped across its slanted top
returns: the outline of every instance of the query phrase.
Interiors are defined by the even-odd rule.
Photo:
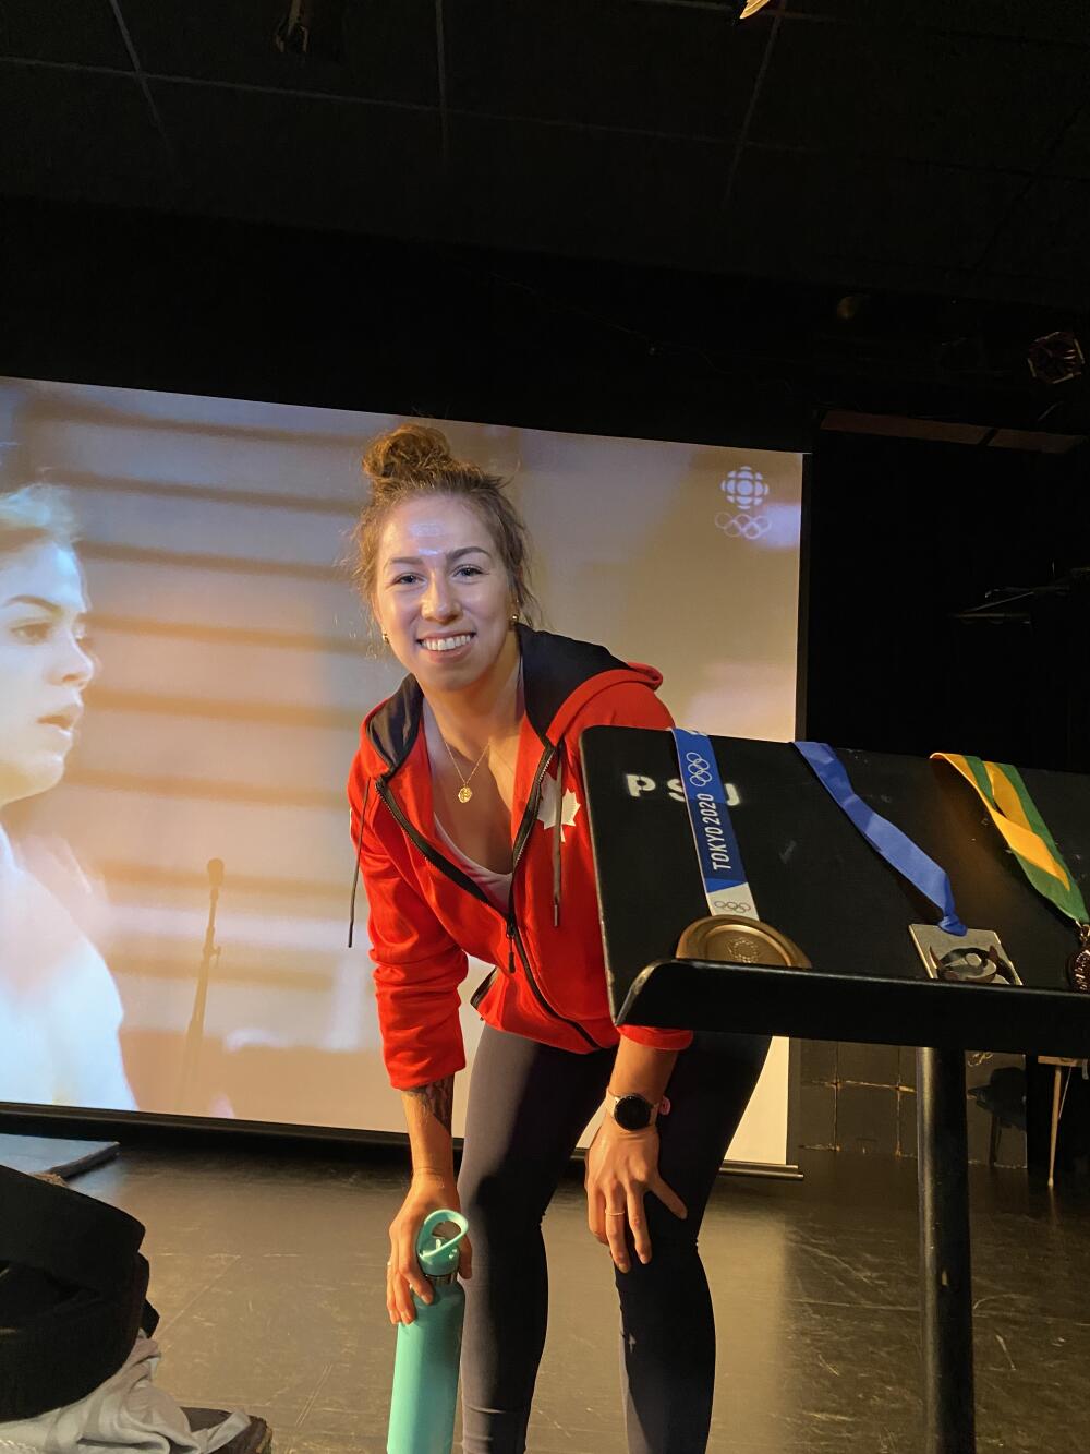
[[[1090,1054],[1090,995],[1067,987],[1074,928],[1025,880],[942,763],[840,752],[852,785],[950,874],[962,920],[994,929],[1022,980],[932,979],[908,935],[934,907],[869,846],[789,743],[714,739],[757,909],[814,968],[677,960],[708,915],[673,739],[592,727],[583,771],[613,1018],[664,1028],[917,1045],[924,1450],[975,1450],[965,1050]],[[1025,772],[1090,893],[1090,778]]]

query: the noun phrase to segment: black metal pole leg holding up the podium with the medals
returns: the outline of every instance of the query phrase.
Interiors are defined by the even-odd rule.
[[[924,1454],[975,1454],[965,1057],[916,1051]]]

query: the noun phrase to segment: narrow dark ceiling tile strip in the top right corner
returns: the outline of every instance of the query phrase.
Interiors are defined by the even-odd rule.
[[[888,4],[882,0],[780,0],[791,16],[818,16],[859,25],[908,31],[974,35],[1010,35],[1036,41],[1067,41],[1090,47],[1084,0],[911,0]]]

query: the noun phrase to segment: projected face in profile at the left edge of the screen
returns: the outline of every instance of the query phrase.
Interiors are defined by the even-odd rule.
[[[76,555],[52,541],[0,557],[0,806],[60,782],[94,664]]]

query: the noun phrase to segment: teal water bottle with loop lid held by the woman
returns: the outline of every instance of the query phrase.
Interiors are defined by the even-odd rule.
[[[452,1223],[456,1234],[440,1237],[436,1227],[443,1223]],[[416,1322],[397,1330],[388,1454],[451,1454],[465,1312],[458,1249],[468,1230],[459,1211],[433,1211],[417,1234],[416,1253],[433,1298],[421,1303],[414,1293]]]

